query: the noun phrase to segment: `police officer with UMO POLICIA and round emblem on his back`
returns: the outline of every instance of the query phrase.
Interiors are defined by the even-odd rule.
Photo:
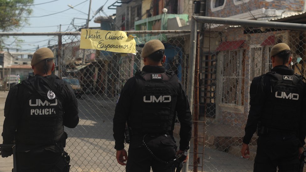
[[[49,48],[37,50],[31,66],[35,76],[8,92],[3,143],[16,144],[18,171],[67,171],[62,156],[67,138],[64,126],[75,128],[79,122],[76,96],[70,85],[51,75],[54,54]],[[12,155],[12,149],[3,148],[1,155]]]

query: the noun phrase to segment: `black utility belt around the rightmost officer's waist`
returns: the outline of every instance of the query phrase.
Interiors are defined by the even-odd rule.
[[[283,133],[297,134],[297,132],[294,130],[283,130],[283,129],[273,128],[273,127],[266,127],[266,126],[262,126],[261,122],[258,122],[257,124],[257,129],[256,129],[257,136],[262,136],[262,135],[267,135],[267,134],[283,134]]]

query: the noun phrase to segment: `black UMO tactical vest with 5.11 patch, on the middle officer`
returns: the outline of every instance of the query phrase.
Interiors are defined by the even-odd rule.
[[[173,72],[135,74],[139,85],[138,99],[140,111],[132,112],[129,127],[132,134],[169,133],[173,130],[177,94],[170,83],[177,83]]]

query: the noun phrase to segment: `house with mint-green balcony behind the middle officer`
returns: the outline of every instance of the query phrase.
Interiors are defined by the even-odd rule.
[[[190,0],[127,0],[117,1],[116,25],[126,31],[153,31],[153,30],[183,30],[193,14],[193,1]],[[187,80],[185,65],[189,52],[189,36],[179,34],[133,34],[137,36],[136,50],[140,52],[145,42],[150,39],[159,39],[165,45],[167,70],[173,70],[178,78],[185,83]],[[187,46],[187,47],[186,47]],[[123,57],[123,58],[122,58]],[[121,58],[127,58],[123,55]],[[128,58],[137,60],[137,66],[143,66],[140,55],[128,55]],[[134,64],[135,64],[134,63]],[[135,69],[135,67],[133,69]],[[133,74],[135,71],[123,73]],[[129,75],[124,77],[128,78]]]

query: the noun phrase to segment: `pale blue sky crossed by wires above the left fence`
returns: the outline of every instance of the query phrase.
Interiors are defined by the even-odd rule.
[[[92,0],[90,19],[93,17],[94,12],[104,4],[103,11],[107,15],[113,15],[116,13],[116,10],[108,9],[108,6],[112,5],[116,1],[117,0]],[[75,18],[74,25],[77,26],[86,24],[89,2],[90,0],[34,0],[33,4],[37,5],[31,6],[33,12],[29,16],[29,24],[25,25],[18,31],[12,32],[58,32],[60,31],[60,24],[62,25],[62,32],[76,31],[72,25],[72,20]],[[70,8],[68,5],[71,5],[74,8]],[[68,10],[64,11],[66,9]],[[94,23],[94,19],[99,16],[106,15],[102,12],[97,13],[97,15],[89,22],[89,27],[100,27],[100,23]],[[15,48],[18,48],[18,51],[34,52],[38,46],[40,48],[46,47],[48,45],[48,41],[50,41],[51,45],[57,44],[57,36],[18,36],[18,39],[22,39],[24,41],[19,43],[20,47],[17,47],[14,43],[15,39],[15,37],[10,36],[9,39],[6,40],[6,44],[9,44],[9,47],[12,48],[9,49],[11,52],[17,51]]]

